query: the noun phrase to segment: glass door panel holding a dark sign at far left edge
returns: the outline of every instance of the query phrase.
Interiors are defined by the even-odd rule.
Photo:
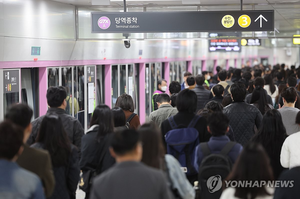
[[[21,102],[21,71],[20,69],[0,69],[0,120],[4,119],[7,109]]]

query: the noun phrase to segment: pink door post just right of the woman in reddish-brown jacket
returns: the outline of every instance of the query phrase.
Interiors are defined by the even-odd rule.
[[[146,65],[145,63],[140,63],[140,74],[139,74],[139,79],[140,79],[140,86],[139,86],[139,100],[140,100],[140,113],[139,113],[139,117],[140,117],[140,123],[143,124],[146,122]]]

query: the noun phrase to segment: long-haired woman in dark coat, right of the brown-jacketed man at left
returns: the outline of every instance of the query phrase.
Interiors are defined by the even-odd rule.
[[[71,144],[57,114],[44,116],[36,143],[31,147],[47,150],[51,156],[55,188],[49,198],[75,198],[79,180],[78,151]]]

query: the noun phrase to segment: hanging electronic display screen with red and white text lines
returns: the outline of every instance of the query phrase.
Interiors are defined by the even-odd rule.
[[[239,33],[209,33],[209,52],[241,52]]]

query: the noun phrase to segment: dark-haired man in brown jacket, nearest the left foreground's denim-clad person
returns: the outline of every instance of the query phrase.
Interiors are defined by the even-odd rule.
[[[5,119],[22,128],[24,132],[24,151],[19,156],[17,163],[20,167],[40,177],[44,186],[45,196],[48,198],[52,195],[55,185],[50,155],[45,150],[30,148],[26,144],[31,134],[32,127],[30,120],[32,115],[33,111],[29,106],[26,104],[16,104],[10,107],[5,115]]]

